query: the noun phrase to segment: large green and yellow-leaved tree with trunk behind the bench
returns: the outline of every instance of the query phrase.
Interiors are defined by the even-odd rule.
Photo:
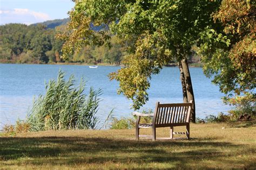
[[[218,5],[218,1],[76,1],[69,12],[69,31],[58,34],[65,40],[63,59],[84,45],[110,46],[106,31],[110,30],[129,54],[110,79],[120,82],[118,93],[131,98],[134,109],[148,100],[151,75],[173,59],[180,68],[184,102],[194,101],[186,57]],[[95,32],[91,25],[104,29]],[[193,103],[192,122],[195,117]]]

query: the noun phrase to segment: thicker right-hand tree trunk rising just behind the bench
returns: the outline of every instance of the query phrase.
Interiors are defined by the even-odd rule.
[[[190,77],[190,70],[188,69],[187,60],[183,59],[180,61],[181,66],[183,68],[184,78],[185,78],[185,84],[186,84],[186,93],[187,93],[187,101],[193,100],[192,110],[191,110],[191,122],[196,123],[196,107],[194,102],[194,93],[193,93],[193,87]],[[182,80],[181,80],[182,82]]]

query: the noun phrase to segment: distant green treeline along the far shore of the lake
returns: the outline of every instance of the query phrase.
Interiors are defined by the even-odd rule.
[[[112,36],[112,47],[86,46],[63,61],[63,41],[55,38],[55,34],[65,30],[69,19],[49,20],[44,23],[6,24],[0,26],[0,63],[77,63],[119,65],[126,53]],[[93,27],[92,29],[100,29]],[[190,62],[197,63],[199,57],[191,55]],[[175,63],[175,61],[173,61]],[[172,63],[170,63],[171,65]]]

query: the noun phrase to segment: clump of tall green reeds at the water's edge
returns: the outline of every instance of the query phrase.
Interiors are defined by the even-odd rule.
[[[56,80],[46,84],[46,94],[39,95],[28,113],[27,123],[31,131],[64,130],[64,129],[96,129],[102,90],[90,88],[86,96],[85,82],[75,86],[74,76],[64,79],[65,73],[60,70]]]

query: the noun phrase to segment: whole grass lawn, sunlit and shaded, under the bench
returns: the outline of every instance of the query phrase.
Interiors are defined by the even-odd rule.
[[[185,127],[174,128],[183,131]],[[150,130],[142,133],[151,134]],[[168,137],[169,128],[157,129]],[[178,136],[174,136],[178,137]],[[256,168],[256,124],[191,124],[191,140],[134,140],[134,130],[0,137],[0,169]]]

